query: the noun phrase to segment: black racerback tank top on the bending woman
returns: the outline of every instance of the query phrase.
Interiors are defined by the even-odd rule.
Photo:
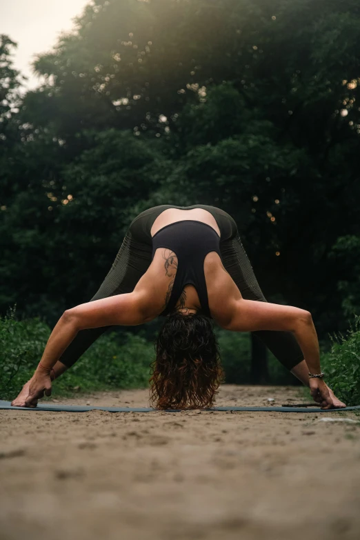
[[[203,261],[208,253],[216,251],[221,258],[220,237],[207,223],[184,219],[161,228],[152,237],[152,259],[157,248],[168,248],[177,255],[177,273],[168,305],[161,316],[171,312],[183,288],[190,284],[197,290],[201,311],[211,318],[206,289]]]

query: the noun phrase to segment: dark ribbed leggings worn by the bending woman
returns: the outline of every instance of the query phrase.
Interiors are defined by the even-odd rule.
[[[155,219],[163,210],[167,210],[168,208],[179,208],[181,210],[203,208],[204,210],[208,210],[214,219],[216,219],[221,232],[220,250],[223,266],[237,284],[242,297],[246,300],[266,302],[266,298],[261,292],[248,256],[241,243],[237,224],[234,219],[223,210],[220,210],[220,208],[201,204],[193,206],[164,204],[141,212],[130,223],[110,271],[90,301],[111,297],[114,294],[132,292],[134,290],[137,282],[146,270],[148,270],[151,263],[152,239],[150,230],[152,223],[154,223]],[[111,327],[102,326],[101,328],[80,330],[59,358],[61,363],[67,367],[72,366],[81,357],[81,354],[108,328]],[[303,353],[292,332],[258,330],[257,332],[252,332],[252,334],[259,337],[288,370],[291,370],[297,363],[303,360]]]

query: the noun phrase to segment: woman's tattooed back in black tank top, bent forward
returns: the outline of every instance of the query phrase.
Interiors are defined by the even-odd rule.
[[[221,261],[221,229],[214,216],[203,208],[168,208],[150,234],[152,263],[135,288],[148,289],[149,317],[178,310],[226,323],[228,299],[241,294]]]

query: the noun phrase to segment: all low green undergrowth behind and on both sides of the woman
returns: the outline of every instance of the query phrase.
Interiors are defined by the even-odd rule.
[[[13,399],[41,359],[50,327],[39,318],[18,321],[15,308],[0,317],[0,397]],[[250,335],[217,330],[227,383],[249,383]],[[346,336],[331,337],[332,348],[321,357],[326,383],[348,406],[360,405],[360,317],[355,316]],[[54,385],[55,395],[125,388],[146,388],[153,343],[131,332],[103,334]],[[269,355],[271,384],[291,384],[290,374]],[[302,387],[309,399],[308,388]],[[340,413],[339,413],[340,414]],[[359,412],[360,414],[360,412]]]

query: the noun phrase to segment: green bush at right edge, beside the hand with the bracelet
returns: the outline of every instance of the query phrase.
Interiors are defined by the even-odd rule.
[[[334,394],[346,405],[360,404],[360,316],[355,315],[354,326],[347,336],[330,337],[332,348],[321,357],[325,380]]]

